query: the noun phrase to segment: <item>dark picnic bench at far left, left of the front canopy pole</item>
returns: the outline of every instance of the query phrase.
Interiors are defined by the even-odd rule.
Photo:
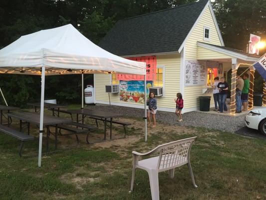
[[[34,139],[34,136],[32,136],[32,135],[25,134],[23,132],[20,132],[18,130],[15,130],[13,128],[3,126],[3,125],[0,125],[0,131],[8,134],[10,136],[13,136],[13,137],[15,137],[21,141],[19,151],[18,151],[18,154],[20,157],[22,156],[21,152],[22,152],[22,147],[23,147],[24,141],[29,141],[29,140]]]

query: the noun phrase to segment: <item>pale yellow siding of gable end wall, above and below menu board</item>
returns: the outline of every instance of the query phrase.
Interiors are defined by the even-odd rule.
[[[210,27],[210,40],[204,40],[204,25]],[[222,45],[218,30],[216,29],[214,19],[211,14],[210,7],[207,7],[201,18],[199,19],[197,25],[195,26],[190,37],[187,39],[185,44],[185,59],[186,60],[197,60],[197,41],[212,43],[216,45]],[[205,49],[204,49],[205,50]],[[212,59],[212,56],[217,56],[215,52],[205,51],[206,54],[200,53],[199,59]],[[204,56],[204,58],[203,58]],[[221,54],[218,56],[222,56]],[[221,57],[220,57],[221,58]],[[206,85],[195,85],[195,86],[185,86],[185,99],[184,108],[194,108],[199,107],[199,96],[202,94],[202,89],[206,88]],[[212,96],[213,94],[206,94]],[[211,104],[213,103],[213,98]]]

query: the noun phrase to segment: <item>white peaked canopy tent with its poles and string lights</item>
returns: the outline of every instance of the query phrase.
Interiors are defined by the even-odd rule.
[[[0,73],[41,75],[38,166],[41,166],[45,75],[80,73],[83,87],[83,73],[142,74],[146,85],[145,62],[125,59],[100,48],[71,24],[21,36],[0,49]],[[144,108],[147,141],[146,103]]]

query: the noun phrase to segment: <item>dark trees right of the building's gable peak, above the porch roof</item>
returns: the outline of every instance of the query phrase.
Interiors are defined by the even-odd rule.
[[[215,0],[214,10],[226,46],[246,50],[250,33],[266,36],[265,0]]]

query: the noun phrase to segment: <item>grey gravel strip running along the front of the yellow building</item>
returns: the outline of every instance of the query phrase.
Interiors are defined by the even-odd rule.
[[[102,111],[111,111],[116,113],[122,113],[126,116],[143,117],[143,109],[133,107],[122,107],[115,105],[102,105],[97,104],[95,106],[89,106],[90,109],[97,109]],[[177,121],[175,113],[157,111],[156,118],[158,121],[162,121],[170,124],[180,124],[185,126],[205,127],[211,129],[218,129],[228,132],[237,132],[241,128],[245,127],[245,115],[240,116],[228,116],[219,115],[213,113],[192,111],[183,114],[183,122]]]

